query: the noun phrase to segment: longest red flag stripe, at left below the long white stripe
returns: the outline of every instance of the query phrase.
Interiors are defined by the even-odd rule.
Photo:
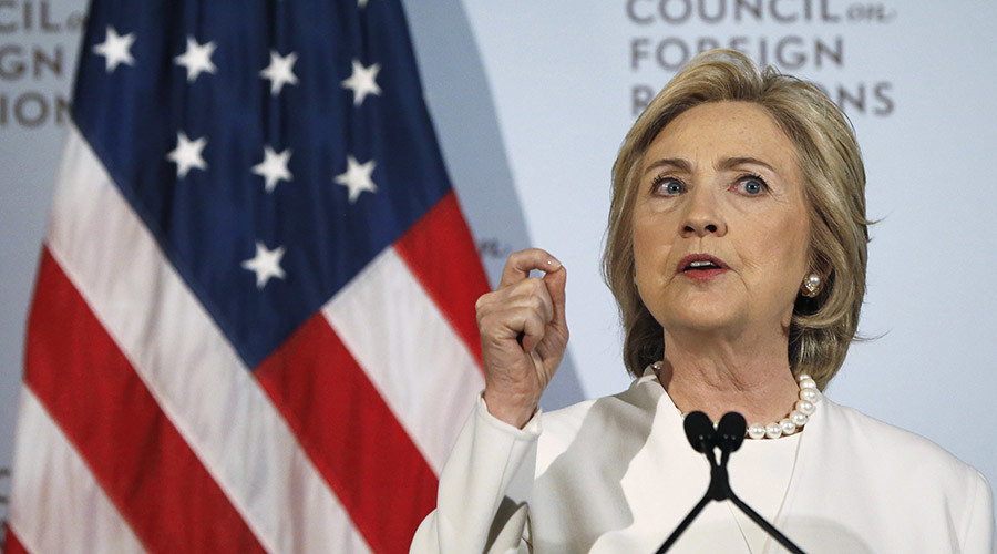
[[[37,287],[24,381],[143,545],[263,552],[48,250]]]

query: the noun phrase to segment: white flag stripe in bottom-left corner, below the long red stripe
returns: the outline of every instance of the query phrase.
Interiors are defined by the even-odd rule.
[[[38,398],[21,389],[10,529],[32,554],[144,552]]]

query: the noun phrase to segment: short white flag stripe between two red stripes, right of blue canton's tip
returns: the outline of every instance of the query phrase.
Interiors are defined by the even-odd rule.
[[[446,318],[394,248],[378,255],[322,314],[439,475],[484,388]]]

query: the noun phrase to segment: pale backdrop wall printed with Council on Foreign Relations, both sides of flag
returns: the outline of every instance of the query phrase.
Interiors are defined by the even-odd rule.
[[[636,110],[683,60],[732,47],[822,84],[865,156],[868,215],[882,222],[861,330],[882,338],[853,347],[829,394],[997,481],[997,3],[404,3],[490,274],[531,245],[568,268],[573,340],[547,406],[628,383],[598,274],[609,168]],[[0,497],[83,9],[83,0],[0,1]]]

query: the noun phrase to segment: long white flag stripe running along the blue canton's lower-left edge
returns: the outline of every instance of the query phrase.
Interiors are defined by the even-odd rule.
[[[279,412],[75,126],[60,167],[48,243],[265,548],[369,552]]]

